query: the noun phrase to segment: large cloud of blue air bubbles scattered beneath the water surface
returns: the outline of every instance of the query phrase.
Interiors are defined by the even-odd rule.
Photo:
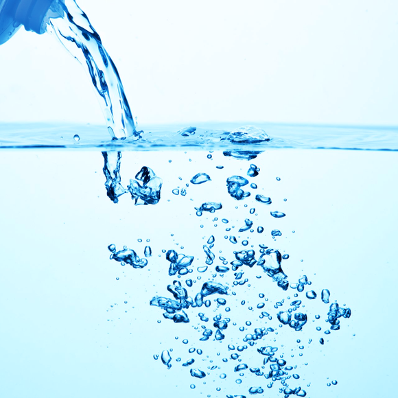
[[[180,134],[194,133],[194,130],[182,130]],[[234,133],[231,139],[238,142],[245,139],[245,134]],[[226,156],[246,160],[257,156],[248,151],[226,152],[229,152],[224,152]],[[151,178],[158,178],[150,174],[150,169],[143,169],[139,177],[142,176],[144,183],[150,183]],[[263,175],[258,177],[259,167],[251,164],[244,172],[246,170],[248,178],[257,177],[257,182],[260,182],[259,178]],[[211,185],[204,183],[210,180],[208,174],[197,173],[190,182],[198,185],[196,189],[207,189]],[[159,183],[159,180],[155,181]],[[212,184],[215,183],[216,178]],[[195,208],[196,215],[204,218],[200,228],[204,227],[202,231],[207,231],[202,233],[202,242],[191,242],[198,250],[194,252],[190,248],[191,255],[185,255],[179,253],[180,249],[183,250],[180,245],[178,252],[175,247],[163,249],[163,254],[156,259],[156,266],[162,277],[170,279],[166,283],[164,296],[151,294],[150,305],[157,307],[156,311],[161,310],[167,323],[180,324],[175,326],[175,330],[181,328],[181,332],[178,333],[180,338],[174,342],[173,347],[179,350],[179,356],[173,360],[171,355],[176,355],[176,351],[159,350],[154,355],[154,360],[161,358],[161,363],[167,369],[171,369],[172,364],[183,366],[188,376],[187,386],[200,390],[200,393],[203,391],[208,397],[213,397],[210,388],[217,391],[215,397],[246,398],[247,395],[264,395],[271,388],[279,388],[279,393],[284,398],[306,397],[310,384],[301,385],[301,381],[306,380],[301,373],[301,358],[305,358],[307,351],[315,343],[318,349],[329,344],[329,336],[323,334],[324,337],[320,338],[318,333],[322,329],[326,335],[338,331],[342,320],[350,318],[351,309],[340,307],[337,302],[330,304],[329,290],[318,290],[307,275],[299,274],[301,276],[298,279],[288,277],[294,265],[301,264],[301,261],[294,257],[294,253],[288,255],[284,249],[275,247],[277,238],[282,236],[280,229],[283,230],[285,222],[279,219],[285,218],[285,213],[277,210],[266,211],[270,208],[263,204],[272,204],[268,196],[251,196],[248,189],[262,189],[260,184],[259,187],[249,185],[246,178],[233,174],[227,178],[226,188],[232,199],[226,196],[228,200],[225,202],[223,198],[222,203],[204,202]],[[225,187],[223,189],[225,195]],[[283,198],[273,196],[278,197]],[[215,200],[218,198],[215,197]],[[239,202],[243,200],[244,202]],[[278,200],[277,203],[275,199],[274,204],[279,206],[283,199]],[[245,213],[242,216],[239,212],[239,216],[234,218],[230,209],[237,209],[237,206]],[[220,211],[220,219],[211,215],[215,211]],[[226,215],[228,218],[224,217]],[[218,220],[219,226],[214,224]],[[263,225],[259,225],[260,220],[267,229],[267,220],[272,222],[272,227],[277,226],[280,229],[269,228],[266,231]],[[220,227],[222,234],[218,230]],[[290,232],[283,230],[283,236]],[[259,239],[264,241],[257,242]],[[185,242],[180,243],[185,245]],[[156,253],[153,245],[145,246],[143,259],[126,246],[123,250],[116,251],[115,245],[111,244],[108,249],[112,253],[111,259],[130,264],[133,268],[142,268],[148,264],[148,260],[154,261],[152,256]],[[257,290],[255,301],[248,299],[246,292],[249,289],[260,289]],[[327,304],[324,306],[323,317],[311,313],[312,306],[318,303],[321,306],[323,303]],[[321,324],[320,320],[324,323]],[[186,325],[181,326],[183,324]],[[324,325],[328,326],[326,330]],[[187,327],[191,327],[193,331],[189,336],[185,334]],[[304,331],[316,334],[309,335],[306,343],[301,341]],[[290,347],[288,339],[283,340],[284,336],[291,333],[297,336],[293,339],[293,347]],[[218,351],[216,354],[214,347]],[[191,377],[204,379],[204,382],[191,384]],[[333,380],[331,386],[336,385],[337,381]]]

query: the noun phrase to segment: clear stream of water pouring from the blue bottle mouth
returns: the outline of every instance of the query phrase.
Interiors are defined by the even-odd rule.
[[[54,1],[51,7],[55,16],[49,19],[47,32],[54,34],[71,55],[86,67],[110,137],[139,138],[117,68],[87,15],[74,0]]]

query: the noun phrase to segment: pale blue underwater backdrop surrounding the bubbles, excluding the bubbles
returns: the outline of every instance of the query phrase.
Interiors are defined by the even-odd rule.
[[[212,398],[225,398],[227,393],[249,396],[248,386],[262,386],[266,397],[281,397],[278,383],[268,390],[264,377],[248,371],[238,388],[237,374],[232,370],[235,364],[221,362],[231,354],[226,344],[242,344],[244,334],[264,325],[264,321],[256,320],[259,310],[249,312],[239,305],[245,299],[255,307],[259,292],[270,299],[265,309],[274,319],[268,325],[276,327],[279,335],[266,336],[248,349],[243,363],[261,366],[256,349],[272,344],[279,347],[278,354],[285,353],[290,364],[299,365],[294,372],[301,379],[289,383],[301,385],[308,392],[307,398],[391,395],[397,367],[396,153],[267,151],[255,159],[261,172],[254,180],[259,194],[272,197],[270,207],[256,202],[254,194],[242,202],[227,194],[226,178],[246,175],[248,162],[226,158],[220,152],[213,153],[213,160],[206,155],[201,151],[125,152],[121,159],[124,186],[141,165],[153,167],[163,178],[159,204],[134,207],[128,195],[121,196],[117,205],[106,198],[99,152],[2,152],[0,165],[8,172],[3,176],[7,194],[0,197],[0,397],[196,398],[211,394]],[[218,164],[225,168],[215,169]],[[187,196],[174,196],[172,189],[185,185],[196,172],[207,172],[212,180],[190,185]],[[223,209],[198,218],[194,207],[205,200],[220,200]],[[252,205],[258,212],[256,217],[248,213]],[[274,219],[270,210],[283,211],[286,217]],[[211,222],[215,216],[219,220],[226,217],[229,226],[235,225],[231,233],[237,235],[239,244],[224,239],[226,224]],[[256,228],[264,225],[264,233],[237,233],[246,217]],[[283,233],[276,242],[270,238],[274,228]],[[164,320],[161,309],[151,307],[149,301],[155,294],[171,296],[166,286],[174,277],[167,275],[168,264],[161,249],[175,248],[178,253],[194,255],[196,269],[204,264],[202,244],[212,234],[213,252],[220,255],[218,250],[222,250],[229,260],[233,250],[244,248],[240,242],[246,236],[250,236],[250,244],[255,244],[257,258],[259,242],[289,253],[283,270],[290,281],[307,274],[312,286],[306,291],[311,288],[319,294],[320,289],[329,288],[331,302],[347,304],[353,315],[341,319],[341,329],[326,336],[323,331],[329,306],[319,296],[309,302],[301,294],[303,312],[309,316],[307,325],[301,332],[279,329],[273,303],[286,296],[293,299],[296,291],[283,292],[259,272],[259,267],[244,267],[244,278],[250,279],[251,287],[235,289],[237,302],[233,296],[226,296],[231,312],[220,312],[231,316],[237,327],[246,320],[253,321],[252,327],[241,333],[229,325],[222,344],[212,340],[200,343],[201,333],[194,330],[197,310],[187,310],[189,324],[175,325]],[[137,242],[139,238],[143,243]],[[142,256],[147,238],[151,239],[153,257],[143,270],[110,261],[108,244],[114,243],[118,249],[126,244]],[[213,268],[200,274],[202,281],[210,277]],[[256,279],[257,274],[263,277]],[[233,278],[230,271],[223,281]],[[220,281],[220,277],[217,279]],[[200,285],[197,281],[190,294]],[[213,299],[215,296],[211,296]],[[111,308],[111,304],[116,305]],[[287,307],[285,303],[282,309]],[[218,313],[214,309],[213,303],[203,312],[212,318]],[[317,313],[321,320],[314,323]],[[158,319],[162,320],[160,325]],[[316,331],[317,325],[323,331]],[[326,340],[324,346],[318,342],[320,337]],[[189,339],[187,346],[183,338]],[[305,346],[303,351],[296,344],[298,338]],[[314,339],[312,344],[308,344],[308,338]],[[202,358],[187,353],[191,346],[202,346]],[[170,348],[174,349],[173,366],[167,371],[152,355]],[[302,358],[299,353],[303,353]],[[220,370],[209,371],[207,355],[213,364],[222,366]],[[196,367],[211,373],[204,379],[206,386],[175,362],[178,356],[183,360],[195,358]],[[224,371],[228,375],[222,382],[219,374]],[[327,387],[333,379],[338,380],[338,386]],[[191,383],[197,385],[195,390],[189,389]],[[306,387],[308,383],[311,388]],[[222,387],[221,393],[215,392],[216,386]]]

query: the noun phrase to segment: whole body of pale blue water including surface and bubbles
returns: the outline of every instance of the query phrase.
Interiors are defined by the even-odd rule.
[[[394,130],[292,149],[295,129],[208,129],[203,150],[5,134],[0,395],[393,396]],[[304,149],[338,134],[373,150]]]

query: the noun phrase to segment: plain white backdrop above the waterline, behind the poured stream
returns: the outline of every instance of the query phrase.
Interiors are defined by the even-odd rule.
[[[80,0],[140,124],[397,125],[396,0]],[[48,34],[0,47],[0,121],[103,124]]]

